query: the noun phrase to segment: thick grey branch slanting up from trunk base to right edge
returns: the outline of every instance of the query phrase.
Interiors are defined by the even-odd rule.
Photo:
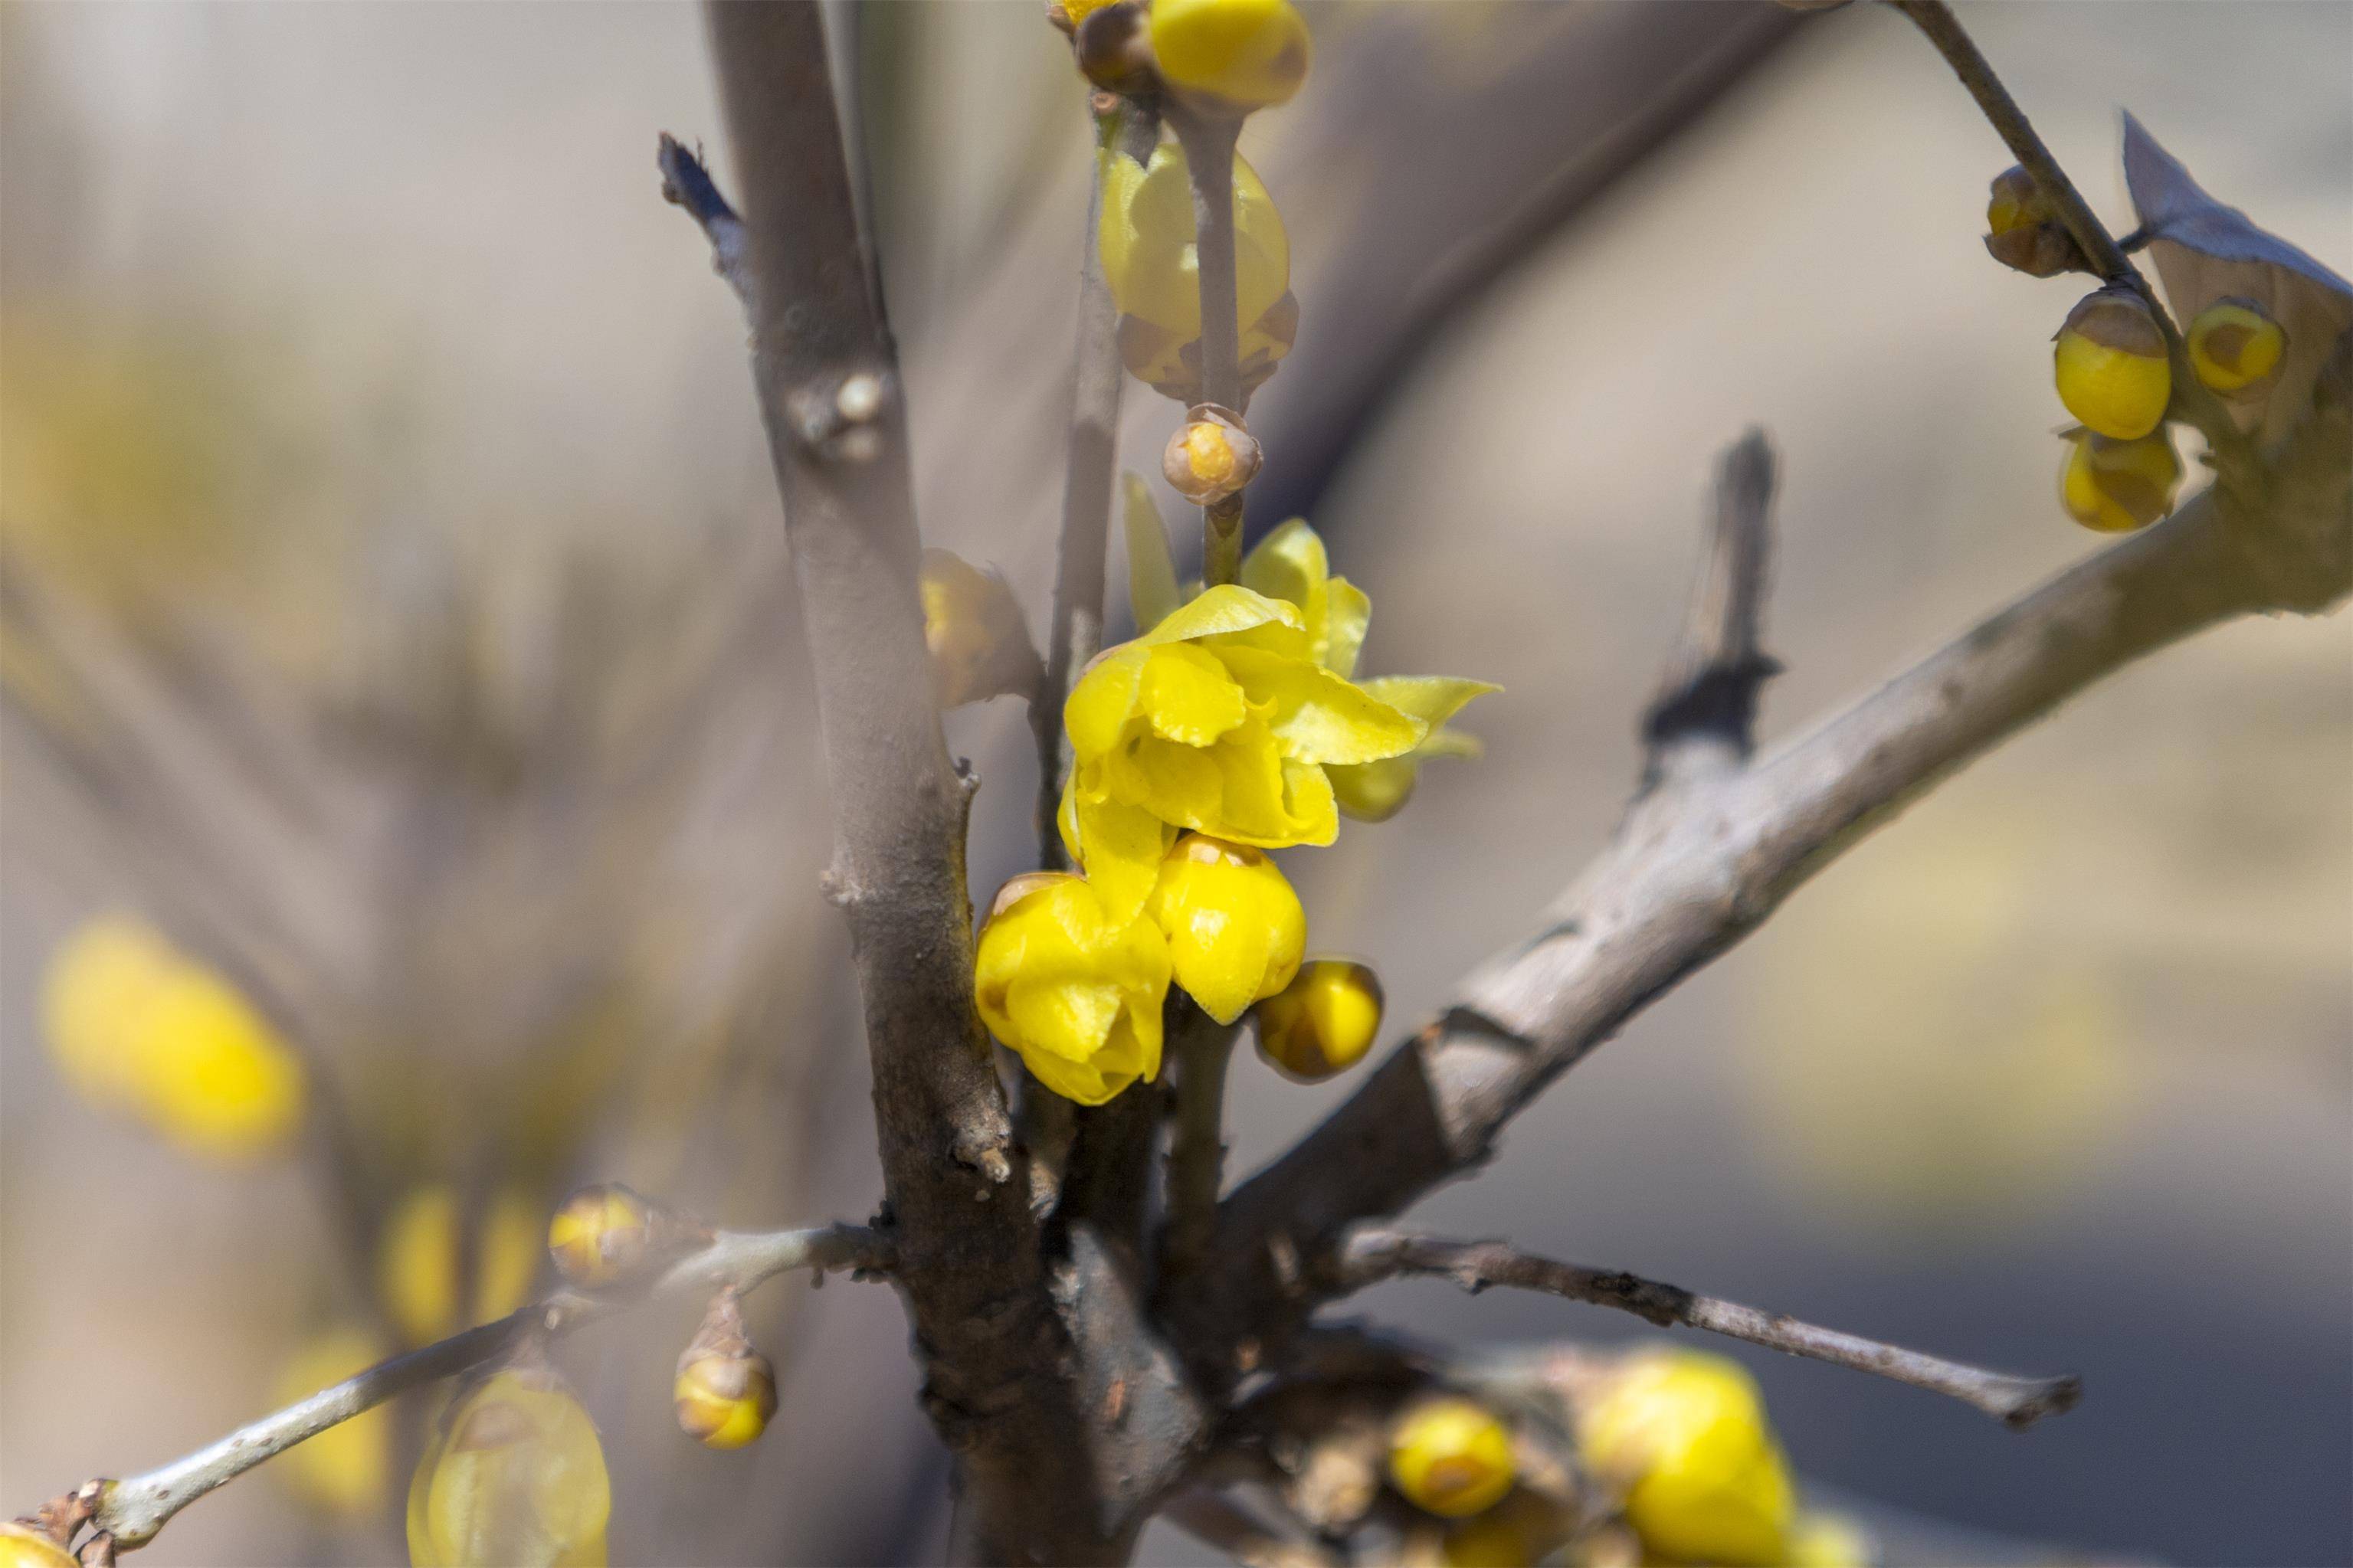
[[[1322,1126],[1219,1211],[1217,1267],[1176,1305],[1212,1380],[1313,1312],[1297,1260],[1471,1173],[1504,1124],[1807,877],[2092,682],[2219,621],[2320,614],[2353,590],[2346,360],[2268,475],[2214,491],[1993,614],[1814,733],[1694,795],[1638,799],[1541,924],[1457,992]]]

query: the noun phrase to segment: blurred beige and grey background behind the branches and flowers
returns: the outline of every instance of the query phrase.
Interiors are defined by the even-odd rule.
[[[1035,5],[838,19],[925,538],[1042,625],[1082,87]],[[2353,270],[2353,7],[1965,19],[2113,228],[2129,106]],[[1308,510],[1374,597],[1369,670],[1506,686],[1466,719],[1482,762],[1285,858],[1311,945],[1369,957],[1407,1027],[1614,823],[1748,423],[1784,458],[1767,743],[2099,548],[2054,498],[2045,343],[2080,284],[1984,256],[2009,158],[1875,7],[1311,21],[1308,89],[1242,146],[1301,301],[1252,407],[1252,527]],[[661,129],[725,179],[675,5],[0,5],[0,1512],[504,1312],[581,1180],[729,1225],[878,1197],[746,334],[656,195]],[[1155,470],[1176,416],[1129,383],[1127,461]],[[1122,581],[1115,550],[1113,604]],[[986,900],[1035,856],[1028,729],[1012,701],[948,729]],[[78,938],[167,940],[219,1032],[252,1027],[219,987],[247,997],[299,1051],[256,1091],[278,1121],[96,1081],[42,985]],[[1238,1063],[1231,1168],[1348,1084]],[[2242,623],[2099,686],[1421,1218],[2085,1375],[2017,1436],[1744,1356],[1824,1495],[2106,1559],[2353,1559],[2353,628]],[[1360,1307],[1624,1338],[1442,1284]],[[668,1415],[694,1316],[565,1347],[614,1561],[939,1552],[880,1288],[753,1298],[784,1413],[734,1455]],[[146,1556],[400,1561],[421,1420],[273,1465]]]

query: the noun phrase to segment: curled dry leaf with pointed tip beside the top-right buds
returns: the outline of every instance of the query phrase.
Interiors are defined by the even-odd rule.
[[[2289,433],[2311,407],[2313,381],[2337,336],[2353,329],[2353,282],[2257,228],[2238,207],[2207,195],[2181,160],[2158,146],[2129,113],[2125,186],[2174,320],[2191,322],[2214,301],[2235,294],[2259,303],[2287,329],[2280,374],[2249,388],[2254,395],[2233,402],[2233,414],[2242,430],[2264,442]]]

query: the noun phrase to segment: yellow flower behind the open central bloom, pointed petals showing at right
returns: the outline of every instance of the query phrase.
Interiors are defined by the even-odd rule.
[[[1344,679],[1355,679],[1355,658],[1365,646],[1372,599],[1348,578],[1332,576],[1315,529],[1294,517],[1261,538],[1259,548],[1242,562],[1242,585],[1257,588],[1271,599],[1297,604],[1315,661]],[[1365,823],[1388,820],[1405,806],[1424,759],[1478,757],[1478,738],[1445,729],[1445,722],[1461,712],[1471,698],[1501,691],[1501,686],[1452,675],[1377,675],[1358,682],[1358,689],[1421,719],[1426,731],[1421,743],[1400,757],[1325,769],[1339,809]]]

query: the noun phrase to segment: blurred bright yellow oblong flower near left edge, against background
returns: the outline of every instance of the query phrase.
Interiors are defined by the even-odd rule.
[[[85,1098],[129,1110],[186,1154],[247,1161],[301,1126],[294,1048],[209,966],[134,917],[82,926],[49,961],[49,1053]]]

